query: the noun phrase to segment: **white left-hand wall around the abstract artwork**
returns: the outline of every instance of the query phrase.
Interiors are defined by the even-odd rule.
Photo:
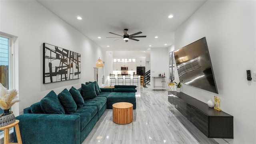
[[[36,1],[2,1],[0,31],[19,38],[19,111],[42,99],[50,90],[56,94],[71,86],[94,80],[96,60],[105,52]],[[43,84],[43,47],[46,42],[81,54],[78,80]],[[104,55],[103,55],[104,54]]]

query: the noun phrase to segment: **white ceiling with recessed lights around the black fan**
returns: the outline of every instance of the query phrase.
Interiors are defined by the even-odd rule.
[[[174,44],[174,31],[206,2],[206,0],[37,1],[100,47],[111,51],[146,51],[148,48],[171,46]],[[168,18],[169,15],[173,15],[173,18]],[[81,16],[82,20],[78,20],[77,16]],[[125,28],[128,29],[129,34],[142,32],[136,36],[147,37],[136,38],[140,40],[138,42],[106,38],[116,37],[109,32],[123,35]]]

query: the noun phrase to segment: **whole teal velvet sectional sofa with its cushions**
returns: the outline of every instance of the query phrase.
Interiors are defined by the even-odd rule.
[[[22,143],[81,144],[104,111],[112,109],[112,104],[131,102],[136,109],[135,88],[99,88],[97,82],[86,82],[79,89],[65,88],[58,95],[50,91],[16,117],[20,120]]]

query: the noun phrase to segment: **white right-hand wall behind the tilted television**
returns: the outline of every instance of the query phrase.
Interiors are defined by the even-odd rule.
[[[207,102],[214,95],[220,108],[234,116],[230,144],[256,143],[256,1],[207,1],[175,31],[175,49],[206,36],[219,94],[182,85],[182,92]]]

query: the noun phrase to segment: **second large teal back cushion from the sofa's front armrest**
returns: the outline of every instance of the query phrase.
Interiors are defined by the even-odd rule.
[[[60,104],[62,104],[66,114],[72,114],[72,113],[76,112],[76,109],[77,109],[76,102],[74,101],[72,95],[66,88],[64,90],[62,90],[62,92],[60,92],[60,94],[58,94],[58,98],[59,98]]]

